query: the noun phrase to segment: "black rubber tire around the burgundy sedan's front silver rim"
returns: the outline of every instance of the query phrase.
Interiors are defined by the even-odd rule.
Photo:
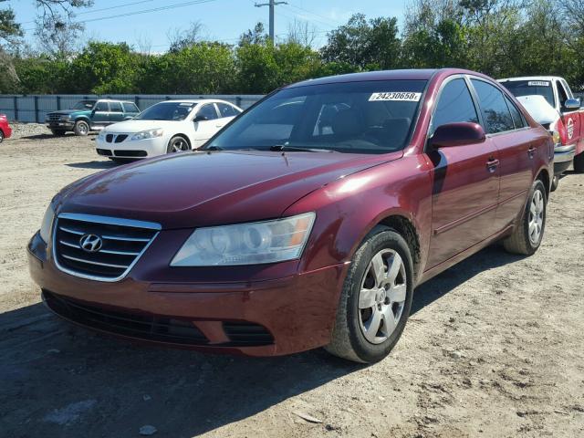
[[[364,328],[362,328],[364,327],[362,312],[370,311],[370,309],[360,308],[360,290],[361,286],[366,284],[367,276],[370,275],[369,268],[373,257],[384,250],[397,253],[401,257],[405,278],[401,277],[399,281],[401,282],[401,287],[405,287],[405,297],[402,301],[401,315],[395,328],[392,329],[391,334],[388,334],[387,337],[381,337],[381,339],[385,339],[380,343],[372,343],[366,339]],[[335,327],[333,328],[331,341],[325,349],[340,358],[361,363],[374,363],[390,354],[391,349],[393,349],[398,339],[400,339],[407,318],[410,316],[413,296],[412,266],[410,248],[401,235],[388,227],[378,227],[373,230],[353,256],[349,273],[347,274],[340,294],[339,308],[337,309],[337,317],[335,319]],[[387,269],[385,272],[389,272],[390,262],[387,265],[384,264],[384,268]],[[397,283],[398,280],[396,279],[395,282]],[[385,297],[385,294],[383,296]],[[375,300],[377,299],[375,297]],[[389,299],[389,293],[385,299]],[[394,304],[391,303],[390,308],[393,308]],[[379,304],[375,306],[379,306]],[[374,311],[377,310],[374,309]],[[391,315],[393,315],[393,310],[391,312]],[[382,328],[383,326],[380,327]],[[380,333],[381,331],[377,332],[377,334]]]

